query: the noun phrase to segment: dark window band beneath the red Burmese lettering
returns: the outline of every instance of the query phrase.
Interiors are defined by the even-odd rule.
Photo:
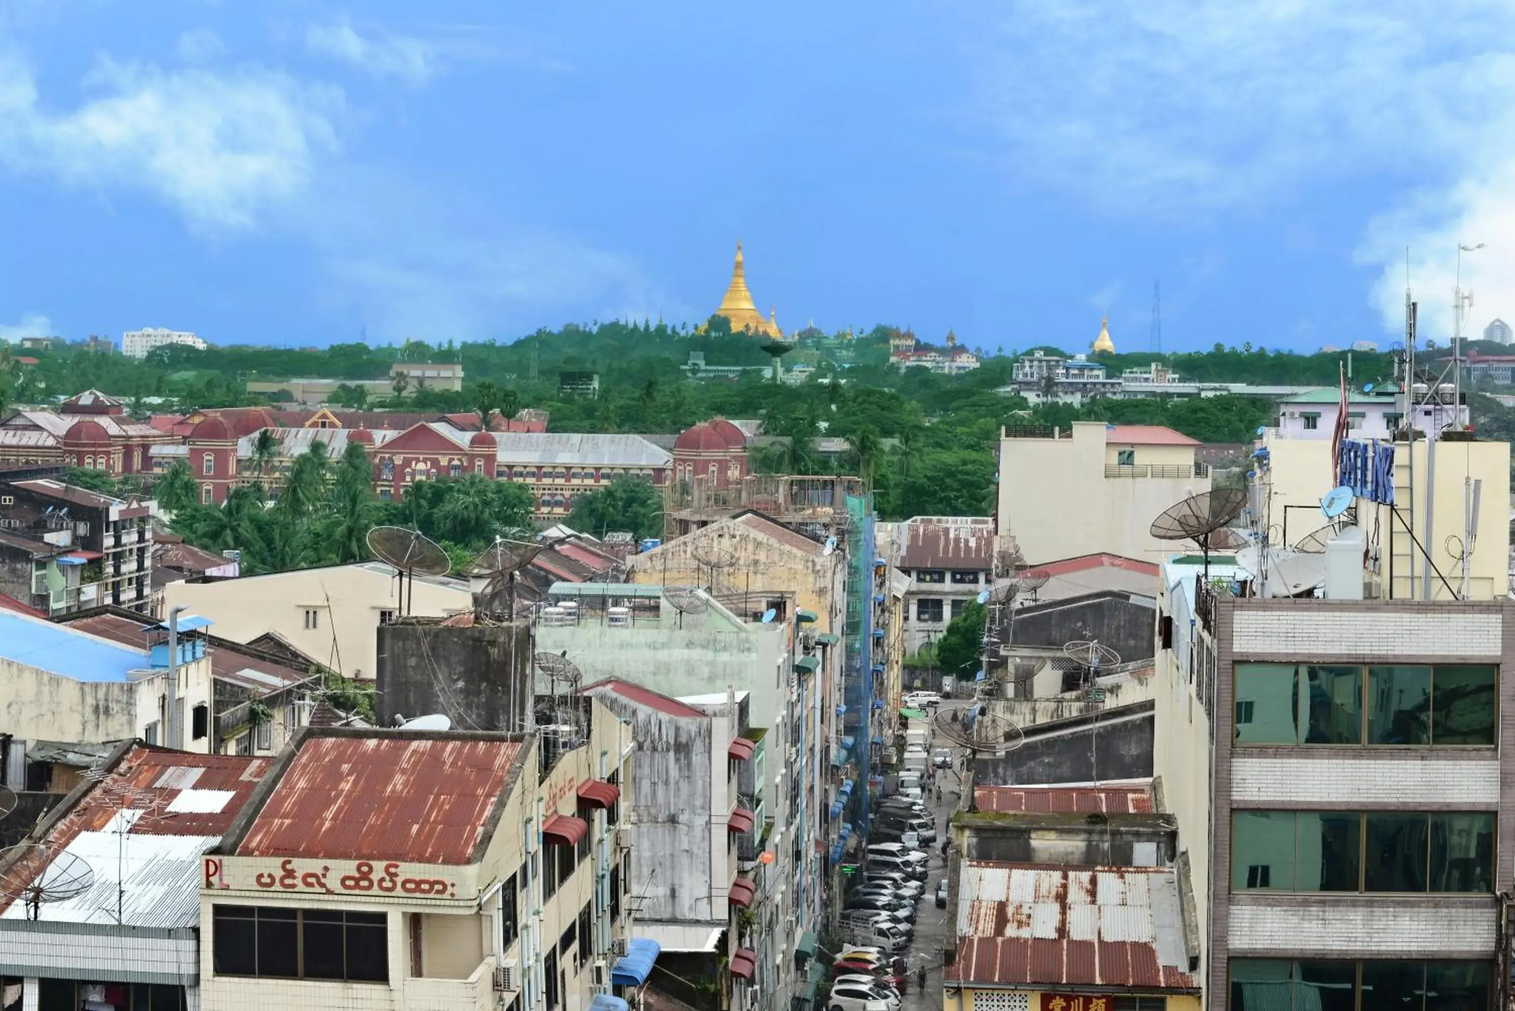
[[[212,958],[226,976],[388,982],[383,912],[214,906]]]

